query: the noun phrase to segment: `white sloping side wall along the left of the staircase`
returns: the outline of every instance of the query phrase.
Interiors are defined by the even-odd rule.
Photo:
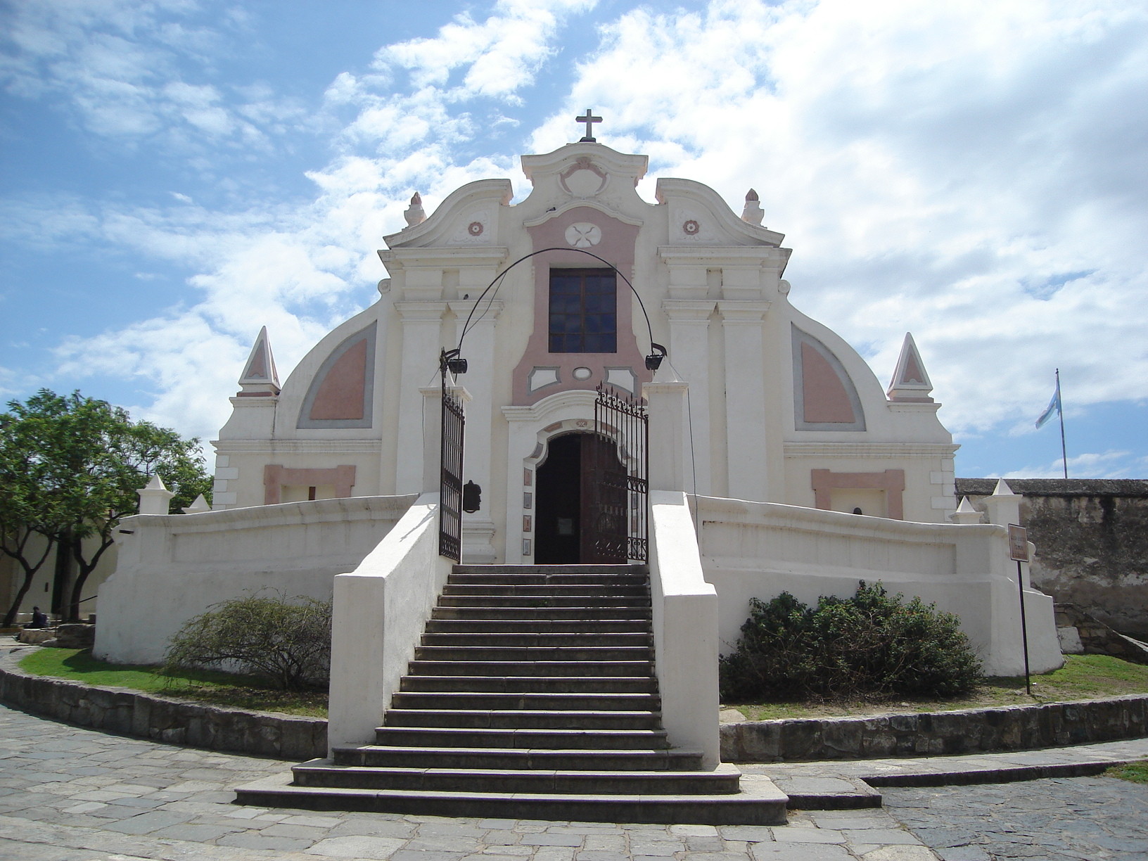
[[[439,556],[439,495],[424,494],[334,582],[327,743],[370,744],[452,563]]]

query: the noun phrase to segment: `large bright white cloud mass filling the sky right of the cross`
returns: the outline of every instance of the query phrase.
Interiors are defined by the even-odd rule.
[[[912,329],[946,422],[984,429],[1056,366],[1088,402],[1148,395],[1146,36],[1148,10],[1103,0],[642,8],[534,144],[594,104],[658,173],[735,210],[755,187],[794,304],[878,375]]]

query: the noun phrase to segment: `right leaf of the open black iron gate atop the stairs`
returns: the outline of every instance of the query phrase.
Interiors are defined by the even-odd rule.
[[[598,386],[594,433],[599,444],[591,448],[594,463],[587,489],[591,494],[589,526],[595,558],[583,561],[646,561],[650,419],[645,402]]]

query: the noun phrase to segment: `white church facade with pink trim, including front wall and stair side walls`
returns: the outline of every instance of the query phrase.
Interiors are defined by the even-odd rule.
[[[1004,530],[1019,497],[1002,482],[987,522],[954,511],[956,447],[912,336],[885,387],[794,308],[790,250],[752,191],[740,215],[685,179],[659,179],[645,201],[646,157],[589,127],[521,163],[519,203],[505,179],[471,183],[429,217],[416,195],[379,251],[379,300],[281,385],[261,332],[214,443],[214,510],[125,521],[96,653],[157,660],[183,621],[253,589],[334,596],[332,744],[369,737],[450,571],[435,542],[440,359],[457,350],[461,479],[481,489],[461,518],[467,564],[590,561],[577,536],[598,389],[649,405],[647,561],[673,743],[716,762],[718,653],[751,597],[783,590],[815,602],[882,581],[959,613],[990,674],[1022,672]],[[638,457],[607,447],[623,470]],[[1060,666],[1052,600],[1026,583],[1023,596],[1033,670]]]

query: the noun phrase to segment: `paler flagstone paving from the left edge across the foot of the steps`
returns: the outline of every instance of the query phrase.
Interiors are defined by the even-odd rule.
[[[933,861],[883,810],[781,828],[312,813],[232,805],[287,763],[110,736],[0,706],[0,859]]]

